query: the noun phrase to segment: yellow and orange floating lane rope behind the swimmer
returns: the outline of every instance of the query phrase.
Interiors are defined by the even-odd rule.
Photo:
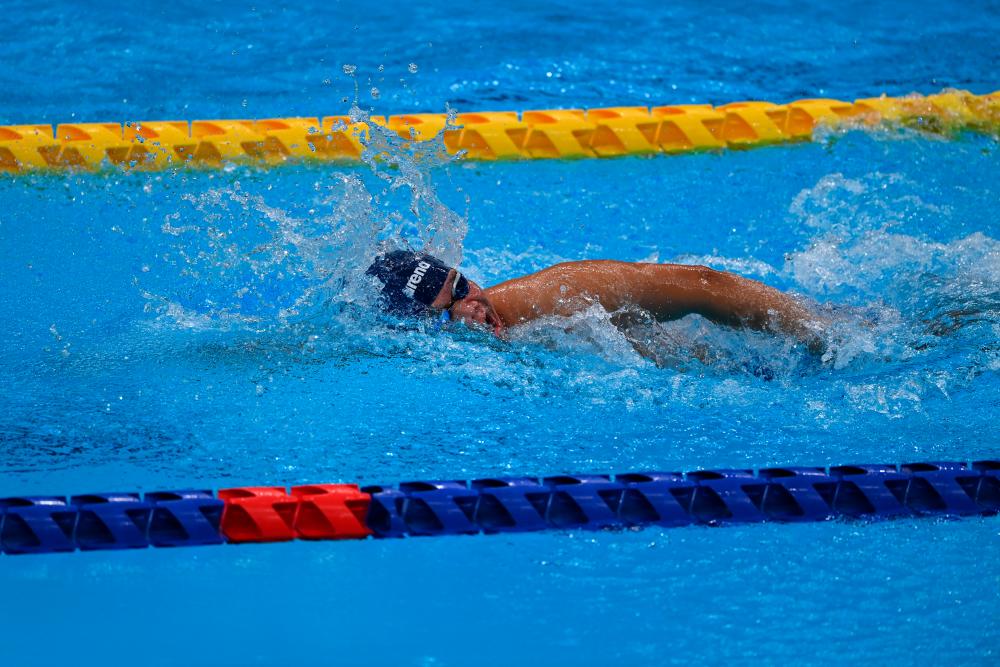
[[[935,133],[1000,132],[1000,91],[973,95],[733,102],[718,107],[549,109],[372,117],[405,139],[444,132],[449,153],[472,160],[612,157],[809,141],[819,126],[904,125]],[[159,170],[227,163],[273,165],[360,159],[366,123],[347,116],[0,126],[0,171],[105,167]]]

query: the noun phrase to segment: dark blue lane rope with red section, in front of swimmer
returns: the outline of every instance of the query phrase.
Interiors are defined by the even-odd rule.
[[[992,515],[1000,512],[1000,461],[492,477],[410,481],[360,491],[339,485],[330,487],[322,504],[282,487],[228,489],[226,497],[239,499],[250,491],[259,495],[261,489],[270,494],[264,498],[269,502],[243,502],[239,521],[228,524],[227,508],[237,501],[209,490],[90,493],[68,501],[64,496],[0,498],[0,550],[29,554],[193,546],[246,541],[248,534],[252,541],[268,542],[289,536],[361,539],[367,530],[384,538]],[[278,520],[275,502],[282,507]],[[311,514],[300,512],[303,507]],[[313,520],[302,520],[306,516]],[[317,532],[319,519],[325,531]],[[348,519],[351,525],[338,524]],[[237,524],[238,535],[232,532],[236,528],[227,528]]]

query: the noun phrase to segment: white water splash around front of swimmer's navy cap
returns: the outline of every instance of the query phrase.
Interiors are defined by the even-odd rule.
[[[350,117],[370,119],[357,104]],[[304,168],[315,177],[305,202],[300,190],[278,201],[252,174],[182,195],[161,226],[171,245],[159,258],[163,279],[140,285],[149,309],[184,327],[328,326],[345,307],[369,305],[364,269],[379,249],[425,248],[457,264],[467,223],[433,182],[453,159],[442,138],[406,141],[371,123],[359,138],[368,169]]]

